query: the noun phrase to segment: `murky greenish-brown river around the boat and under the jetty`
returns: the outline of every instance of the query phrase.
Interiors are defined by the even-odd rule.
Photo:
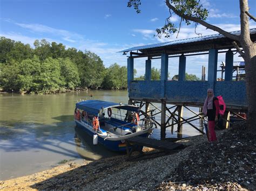
[[[92,138],[76,128],[73,111],[80,99],[127,103],[128,95],[125,90],[0,94],[0,180],[43,171],[64,161],[98,160],[117,154],[92,145]],[[198,111],[198,108],[192,109]],[[192,113],[184,109],[183,116],[188,118]],[[159,120],[160,115],[156,119]],[[199,120],[192,123],[200,126]],[[183,125],[183,137],[199,134],[190,125]],[[160,129],[154,129],[151,137],[160,139]],[[166,137],[177,137],[177,133],[172,135],[167,128]]]

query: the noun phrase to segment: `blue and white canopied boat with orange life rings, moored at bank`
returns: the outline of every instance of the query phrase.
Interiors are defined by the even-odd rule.
[[[76,103],[74,120],[92,137],[93,144],[124,152],[126,139],[149,137],[153,131],[154,120],[139,119],[139,111],[136,105],[86,100]]]

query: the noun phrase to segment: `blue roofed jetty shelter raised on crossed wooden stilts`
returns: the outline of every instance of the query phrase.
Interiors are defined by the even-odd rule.
[[[231,32],[239,35],[240,31]],[[251,39],[256,40],[256,29],[251,29]],[[226,103],[226,112],[224,115],[224,128],[227,128],[230,114],[240,115],[240,112],[247,111],[246,83],[239,81],[237,76],[233,76],[234,70],[239,67],[234,66],[234,54],[237,53],[231,39],[221,35],[213,34],[197,38],[184,40],[175,40],[166,43],[159,43],[146,46],[137,46],[124,49],[123,55],[127,56],[127,83],[129,91],[129,104],[138,104],[141,110],[140,115],[144,117],[161,114],[160,121],[156,121],[161,128],[161,140],[165,139],[166,128],[178,125],[178,135],[182,132],[184,123],[190,124],[199,132],[204,133],[191,122],[197,119],[204,119],[188,107],[202,108],[207,89],[212,88],[215,96],[222,95]],[[239,47],[240,44],[238,44]],[[225,54],[225,65],[221,67],[221,76],[225,74],[224,79],[217,81],[218,54]],[[193,63],[187,63],[190,56],[208,55],[207,79],[205,79],[205,68],[202,68],[201,81],[185,81],[186,66]],[[178,63],[178,81],[168,80],[169,62],[173,58],[179,58]],[[136,59],[145,59],[145,80],[134,80],[134,61]],[[152,60],[159,60],[161,68],[160,80],[151,80]],[[173,63],[172,63],[173,64]],[[172,66],[172,65],[170,65]],[[236,77],[237,80],[233,80]],[[155,103],[160,103],[158,108]],[[190,110],[194,116],[190,118],[183,117],[183,109]],[[153,111],[156,112],[153,114]]]

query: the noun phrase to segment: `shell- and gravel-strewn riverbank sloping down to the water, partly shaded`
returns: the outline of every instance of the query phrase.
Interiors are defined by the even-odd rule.
[[[178,153],[149,151],[127,161],[126,155],[70,162],[43,172],[1,181],[0,189],[255,189],[255,138],[241,124],[206,136],[179,140]],[[149,154],[151,153],[151,154]],[[159,156],[160,155],[160,156]]]

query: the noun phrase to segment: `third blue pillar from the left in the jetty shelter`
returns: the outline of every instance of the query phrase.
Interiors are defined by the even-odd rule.
[[[165,81],[168,77],[168,54],[161,54],[160,98],[165,98]]]

